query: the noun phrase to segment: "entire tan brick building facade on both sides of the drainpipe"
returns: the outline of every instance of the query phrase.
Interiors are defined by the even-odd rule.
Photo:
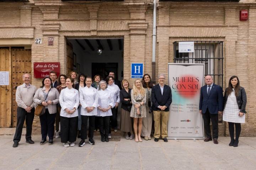
[[[81,2],[81,1],[79,1]],[[86,3],[86,2],[85,2]],[[73,4],[61,0],[31,0],[0,3],[0,45],[30,46],[33,62],[60,62],[66,73],[66,38],[124,38],[124,78],[130,83],[130,63],[145,63],[152,75],[153,0],[124,0],[95,4]],[[248,21],[239,21],[239,11],[249,10]],[[246,123],[241,136],[256,136],[256,2],[158,2],[156,76],[167,74],[173,62],[174,41],[224,41],[224,85],[238,75],[247,92]],[[47,45],[48,36],[54,45]],[[42,44],[34,44],[34,38]],[[33,69],[32,69],[33,77]],[[39,86],[41,79],[32,78]],[[220,135],[228,135],[225,123]],[[34,132],[40,132],[34,119]]]

